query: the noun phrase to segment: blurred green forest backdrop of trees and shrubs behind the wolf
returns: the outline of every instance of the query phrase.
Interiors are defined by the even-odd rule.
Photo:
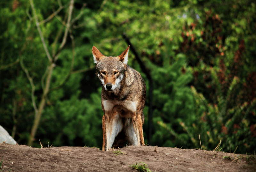
[[[6,0],[0,18],[0,125],[19,144],[102,147],[92,46],[117,56],[126,33],[153,80],[152,146],[255,152],[253,0]]]

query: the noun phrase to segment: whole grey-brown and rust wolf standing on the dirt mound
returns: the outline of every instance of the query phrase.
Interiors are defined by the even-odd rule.
[[[113,57],[92,47],[96,75],[102,83],[103,151],[122,146],[125,141],[128,145],[144,145],[146,85],[140,73],[127,65],[129,48]]]

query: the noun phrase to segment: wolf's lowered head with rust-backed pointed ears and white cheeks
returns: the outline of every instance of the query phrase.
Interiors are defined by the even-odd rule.
[[[107,57],[101,54],[96,47],[92,47],[92,55],[94,63],[96,63],[96,74],[105,90],[116,92],[120,89],[120,82],[124,78],[128,62],[129,48],[130,46],[120,56]]]

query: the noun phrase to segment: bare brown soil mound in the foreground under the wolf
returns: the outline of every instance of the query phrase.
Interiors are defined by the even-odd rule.
[[[131,165],[144,162],[154,171],[256,171],[255,155],[199,149],[127,146],[117,154],[89,147],[32,148],[0,144],[0,171],[137,171]],[[224,157],[224,159],[223,159]]]

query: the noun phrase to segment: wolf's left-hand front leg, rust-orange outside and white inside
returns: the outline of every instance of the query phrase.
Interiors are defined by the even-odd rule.
[[[123,129],[122,119],[117,113],[116,115],[104,114],[104,116],[102,117],[102,129],[102,150],[108,151],[109,149],[111,149],[117,134]]]

